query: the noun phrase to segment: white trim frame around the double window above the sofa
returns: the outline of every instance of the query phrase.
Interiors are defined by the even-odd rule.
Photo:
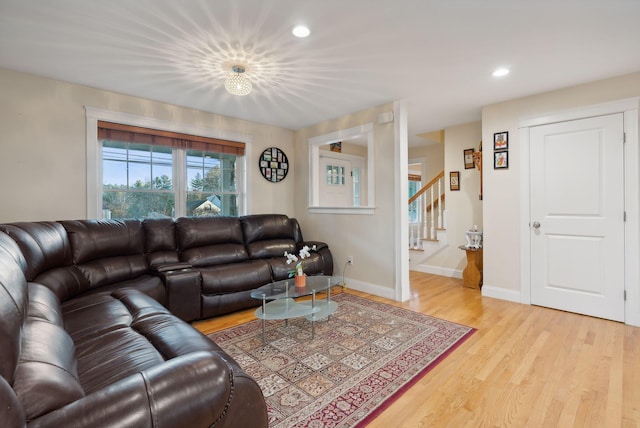
[[[167,122],[160,119],[137,116],[128,113],[115,112],[85,106],[86,114],[86,153],[87,153],[87,218],[102,219],[102,144],[98,140],[98,121],[115,122],[124,125],[139,126],[143,128],[159,129],[163,131],[183,134],[199,135],[203,137],[218,138],[222,140],[238,141],[245,144],[244,156],[238,162],[238,174],[236,183],[238,188],[238,215],[250,212],[247,198],[247,183],[252,179],[248,163],[251,156],[252,136],[237,132],[188,125],[183,123]],[[173,172],[175,177],[186,177],[186,150],[174,149]],[[176,217],[186,215],[187,189],[174,188]]]

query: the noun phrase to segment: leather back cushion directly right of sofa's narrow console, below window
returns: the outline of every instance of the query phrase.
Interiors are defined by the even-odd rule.
[[[194,267],[248,259],[235,217],[182,217],[176,220],[176,236],[181,261]]]

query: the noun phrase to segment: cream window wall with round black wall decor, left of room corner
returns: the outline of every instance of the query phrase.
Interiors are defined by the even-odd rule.
[[[293,215],[295,165],[280,183],[256,165],[267,147],[293,157],[291,130],[0,69],[0,222],[86,218],[84,106],[250,135],[249,213]]]

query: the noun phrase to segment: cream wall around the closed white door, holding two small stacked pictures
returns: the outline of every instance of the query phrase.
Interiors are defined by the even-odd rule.
[[[522,119],[640,96],[640,72],[486,106],[484,144],[483,294],[520,301],[520,212],[518,127]],[[509,169],[494,170],[493,134],[509,132]],[[638,183],[632,184],[638,186]]]

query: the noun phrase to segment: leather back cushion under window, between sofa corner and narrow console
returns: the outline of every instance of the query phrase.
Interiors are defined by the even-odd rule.
[[[137,278],[147,272],[140,220],[62,221],[77,265],[89,288]]]

